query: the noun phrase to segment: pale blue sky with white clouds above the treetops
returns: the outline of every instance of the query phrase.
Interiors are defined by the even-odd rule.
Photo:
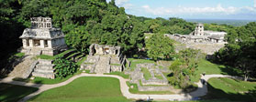
[[[109,1],[109,0],[106,0]],[[256,0],[116,0],[129,15],[256,20]]]

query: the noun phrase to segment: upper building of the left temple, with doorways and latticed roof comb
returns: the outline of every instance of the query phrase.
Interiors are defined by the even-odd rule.
[[[26,55],[54,56],[67,48],[61,29],[52,27],[50,17],[32,17],[31,28],[26,28],[19,38],[23,43],[21,52]]]

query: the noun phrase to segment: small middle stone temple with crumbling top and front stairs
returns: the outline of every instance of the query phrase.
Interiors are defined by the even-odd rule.
[[[93,44],[90,53],[83,62],[81,70],[90,70],[90,73],[121,72],[127,63],[126,56],[122,56],[120,46]]]

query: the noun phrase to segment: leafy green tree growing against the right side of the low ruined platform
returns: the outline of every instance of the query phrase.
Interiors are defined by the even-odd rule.
[[[203,57],[199,50],[185,49],[180,51],[176,60],[169,67],[173,72],[168,79],[170,84],[177,87],[190,87],[191,76],[195,75],[198,62]]]

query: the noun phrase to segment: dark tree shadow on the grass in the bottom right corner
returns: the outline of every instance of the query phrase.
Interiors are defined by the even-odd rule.
[[[254,90],[249,90],[247,92],[240,93],[226,93],[221,89],[212,87],[207,84],[208,93],[206,96],[201,97],[204,100],[228,100],[228,101],[238,101],[238,102],[255,102],[256,101],[256,87]]]

